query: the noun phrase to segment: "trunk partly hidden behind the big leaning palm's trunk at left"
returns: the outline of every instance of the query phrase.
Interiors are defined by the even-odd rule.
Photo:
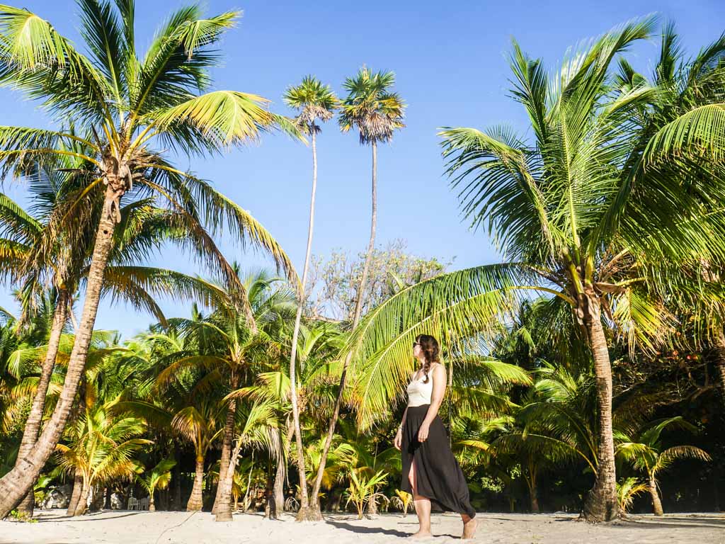
[[[41,370],[41,377],[38,381],[36,396],[33,397],[33,405],[30,406],[28,421],[25,421],[25,429],[22,431],[22,440],[20,442],[20,448],[17,450],[17,461],[15,461],[16,466],[21,458],[25,458],[30,453],[30,450],[36,445],[36,440],[38,440],[38,432],[40,432],[41,421],[43,420],[43,410],[45,409],[45,399],[48,394],[50,377],[53,374],[55,358],[58,355],[58,346],[60,345],[60,337],[68,317],[68,302],[67,291],[65,289],[59,289],[58,300],[53,313],[53,324],[48,339],[48,351],[43,361],[43,369]],[[30,490],[20,502],[17,510],[25,516],[33,516],[34,499],[35,494]]]

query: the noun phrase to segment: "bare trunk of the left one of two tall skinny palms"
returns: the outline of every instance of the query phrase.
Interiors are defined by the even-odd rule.
[[[302,268],[302,287],[299,292],[297,316],[294,318],[294,332],[292,333],[292,350],[289,358],[289,396],[292,403],[292,419],[294,419],[294,436],[297,443],[297,469],[299,471],[299,500],[300,507],[297,512],[297,521],[304,522],[317,519],[315,512],[310,510],[307,496],[307,469],[305,469],[305,448],[302,445],[302,432],[299,427],[299,405],[297,404],[297,337],[299,337],[299,323],[302,321],[302,310],[305,307],[305,289],[307,287],[307,271],[310,268],[310,255],[312,254],[312,234],[315,229],[315,196],[317,193],[317,139],[315,125],[312,125],[312,194],[310,195],[310,222],[307,226],[307,250],[305,251],[305,267]],[[280,461],[282,462],[282,461]],[[314,499],[313,499],[314,500]]]

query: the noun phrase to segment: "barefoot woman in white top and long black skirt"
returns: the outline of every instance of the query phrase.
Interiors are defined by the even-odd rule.
[[[413,495],[420,529],[413,537],[430,537],[431,508],[458,512],[463,538],[476,532],[476,511],[468,498],[463,471],[453,456],[448,434],[438,417],[446,392],[446,370],[439,361],[438,341],[421,334],[413,342],[420,368],[407,386],[408,403],[394,446],[402,455],[402,490]]]

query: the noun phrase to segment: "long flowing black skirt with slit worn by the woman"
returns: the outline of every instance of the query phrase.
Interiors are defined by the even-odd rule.
[[[418,442],[418,429],[426,419],[429,406],[408,406],[400,446],[403,469],[400,488],[413,494],[409,476],[410,464],[415,461],[415,487],[418,495],[431,500],[431,509],[476,516],[463,471],[453,456],[448,433],[438,416],[431,423],[428,440]]]

